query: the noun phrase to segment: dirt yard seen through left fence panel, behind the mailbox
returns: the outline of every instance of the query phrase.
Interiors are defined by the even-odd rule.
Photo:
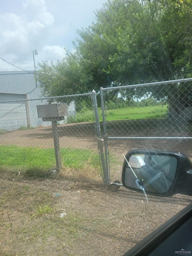
[[[63,124],[58,126],[60,147],[97,149],[93,123]],[[53,148],[51,126],[29,130],[17,130],[0,135],[0,144]]]

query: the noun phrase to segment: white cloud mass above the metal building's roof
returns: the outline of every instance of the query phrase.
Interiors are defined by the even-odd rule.
[[[35,63],[42,60],[62,60],[64,47],[48,45],[53,36],[54,17],[47,11],[45,1],[26,0],[23,2],[23,15],[4,13],[0,15],[0,57],[23,69],[33,70],[32,52],[37,49]],[[0,62],[0,71],[18,70]]]

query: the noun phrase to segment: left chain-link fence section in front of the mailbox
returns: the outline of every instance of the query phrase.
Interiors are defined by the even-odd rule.
[[[64,176],[97,179],[92,102],[91,93],[0,102],[0,169],[44,177],[61,164]]]

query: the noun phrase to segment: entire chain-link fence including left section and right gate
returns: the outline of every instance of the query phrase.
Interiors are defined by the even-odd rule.
[[[191,138],[192,78],[101,87],[100,95],[0,102],[0,168],[32,176],[57,167],[75,179],[92,179],[101,159],[108,184],[121,178],[129,150],[180,151],[192,158]]]

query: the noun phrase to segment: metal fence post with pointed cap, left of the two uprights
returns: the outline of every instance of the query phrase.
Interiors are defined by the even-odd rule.
[[[94,114],[95,114],[95,128],[97,132],[97,137],[101,139],[101,128],[100,128],[100,123],[99,123],[99,112],[98,112],[98,107],[97,107],[97,98],[96,98],[96,92],[95,90],[92,91],[92,98],[93,98],[93,109],[94,109]],[[107,178],[107,171],[106,171],[106,166],[105,166],[105,157],[104,157],[104,152],[103,152],[103,143],[101,140],[98,140],[98,146],[99,146],[99,151],[100,151],[100,157],[101,157],[101,164],[102,164],[102,170],[103,170],[103,179],[104,179],[104,184],[108,185],[108,178]]]

